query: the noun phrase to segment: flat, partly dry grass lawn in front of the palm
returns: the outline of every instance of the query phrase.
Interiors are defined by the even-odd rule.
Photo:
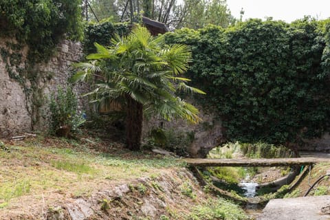
[[[185,166],[172,157],[120,147],[98,153],[72,140],[38,137],[19,143],[0,149],[0,208],[25,195],[47,197],[55,190],[83,196],[110,181],[157,177],[164,168]]]

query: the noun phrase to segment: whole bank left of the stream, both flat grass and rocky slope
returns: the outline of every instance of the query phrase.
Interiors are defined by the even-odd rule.
[[[154,219],[141,212],[143,204],[152,201],[164,202],[157,208],[157,219],[249,219],[239,206],[203,192],[192,176],[176,176],[188,170],[175,157],[127,151],[121,143],[98,137],[2,141],[0,219],[43,219],[49,213],[65,213],[66,203],[89,198],[107,214],[96,219],[118,219],[122,214]],[[148,182],[138,180],[145,177]],[[100,196],[120,184],[127,184],[129,192],[119,200]],[[117,217],[111,217],[114,212]]]

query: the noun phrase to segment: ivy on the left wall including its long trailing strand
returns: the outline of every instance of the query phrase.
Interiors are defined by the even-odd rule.
[[[41,73],[34,67],[49,61],[62,39],[83,38],[80,3],[80,0],[0,1],[0,36],[7,41],[0,48],[0,55],[10,78],[23,88],[25,107],[34,120],[39,118],[39,109],[45,102],[38,86]],[[28,55],[23,58],[25,49]]]

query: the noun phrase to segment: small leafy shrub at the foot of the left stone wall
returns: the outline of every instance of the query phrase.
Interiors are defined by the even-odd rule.
[[[78,131],[78,127],[85,122],[82,115],[78,115],[78,100],[70,87],[64,91],[58,87],[57,94],[50,96],[50,115],[52,133],[69,137],[70,133]]]

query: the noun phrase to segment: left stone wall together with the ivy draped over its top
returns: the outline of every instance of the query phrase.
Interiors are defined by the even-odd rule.
[[[80,0],[0,1],[0,136],[47,126],[47,98],[82,55]]]

